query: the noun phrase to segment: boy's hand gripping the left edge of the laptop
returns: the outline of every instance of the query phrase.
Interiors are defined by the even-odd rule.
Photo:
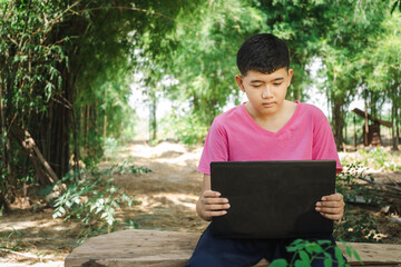
[[[222,194],[218,191],[203,191],[198,201],[198,214],[203,219],[211,220],[212,217],[227,214],[226,209],[229,208],[228,199],[219,196]]]

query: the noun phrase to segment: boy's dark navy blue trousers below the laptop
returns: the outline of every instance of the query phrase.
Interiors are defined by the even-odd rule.
[[[327,246],[335,246],[333,236],[303,238],[309,241],[330,240],[331,244],[321,245],[324,249]],[[268,261],[284,258],[290,263],[293,254],[286,251],[286,247],[294,241],[294,239],[231,239],[214,237],[211,230],[211,225],[200,236],[195,251],[189,259],[188,267],[223,267],[223,266],[253,266],[261,259],[265,258]],[[335,259],[334,248],[326,250],[327,254]],[[344,258],[345,263],[346,259]],[[314,259],[313,267],[324,267],[324,259]],[[333,266],[336,266],[333,263]]]

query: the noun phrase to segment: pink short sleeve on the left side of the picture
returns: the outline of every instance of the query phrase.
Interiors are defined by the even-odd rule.
[[[227,132],[218,123],[217,118],[213,121],[211,129],[207,132],[198,171],[211,175],[212,161],[228,161]]]

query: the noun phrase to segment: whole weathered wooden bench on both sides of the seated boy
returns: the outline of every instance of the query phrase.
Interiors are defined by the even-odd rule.
[[[195,233],[123,230],[94,237],[66,258],[66,267],[180,267],[199,238]],[[365,266],[401,267],[401,245],[351,243]],[[342,244],[339,244],[344,249]],[[345,254],[344,254],[345,255]],[[349,264],[360,266],[355,259]],[[262,260],[257,267],[268,266]]]

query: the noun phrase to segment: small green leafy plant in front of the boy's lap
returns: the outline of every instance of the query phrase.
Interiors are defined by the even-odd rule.
[[[342,241],[343,243],[343,241]],[[324,263],[324,267],[333,266],[336,264],[339,267],[350,265],[345,263],[341,249],[336,246],[329,245],[330,240],[319,240],[317,243],[307,241],[303,239],[294,240],[290,246],[286,247],[286,250],[293,254],[291,261],[286,259],[275,259],[270,265],[271,267],[307,267],[316,260],[321,259]],[[343,243],[345,246],[345,251],[349,257],[355,257],[361,264],[361,258],[358,253],[348,244]],[[326,246],[323,246],[326,245]],[[329,254],[329,250],[334,249],[334,258]]]

